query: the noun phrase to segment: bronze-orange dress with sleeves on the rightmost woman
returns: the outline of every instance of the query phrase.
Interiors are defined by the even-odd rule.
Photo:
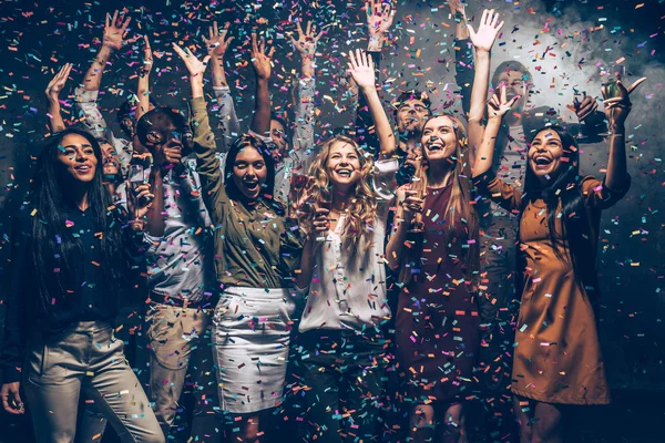
[[[474,183],[508,210],[520,210],[522,192],[492,173],[475,177]],[[601,212],[620,200],[627,186],[623,192],[613,192],[593,176],[584,177],[580,186],[591,220],[595,259]],[[515,333],[512,392],[546,403],[607,404],[610,391],[592,300],[576,284],[569,260],[554,254],[546,217],[545,202],[536,199],[526,205],[520,219],[519,248],[525,256],[526,269]],[[561,233],[559,218],[554,229]],[[564,253],[566,244],[559,240],[557,248]],[[567,251],[563,257],[567,257]]]

